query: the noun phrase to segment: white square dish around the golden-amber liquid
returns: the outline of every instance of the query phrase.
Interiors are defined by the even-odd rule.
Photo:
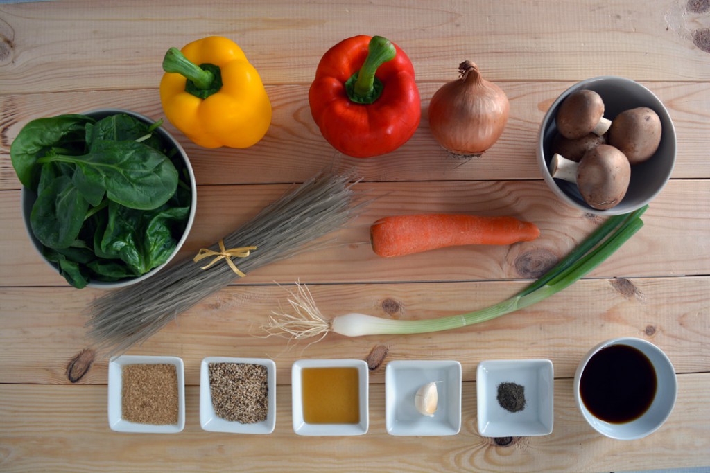
[[[308,423],[303,408],[303,370],[307,368],[355,368],[358,378],[357,423]],[[293,431],[298,435],[363,435],[369,428],[369,370],[364,360],[297,360],[291,367]]]

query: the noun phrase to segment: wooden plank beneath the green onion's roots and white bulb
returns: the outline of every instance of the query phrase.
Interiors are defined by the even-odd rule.
[[[327,317],[361,312],[383,318],[453,316],[510,297],[525,283],[421,283],[309,285]],[[589,279],[542,303],[493,321],[429,335],[328,335],[318,343],[263,338],[273,311],[288,307],[292,286],[230,286],[168,323],[136,355],[175,355],[185,361],[187,384],[199,384],[207,356],[269,357],[279,384],[301,357],[366,359],[373,347],[388,355],[373,371],[383,382],[392,360],[459,360],[464,379],[475,379],[481,360],[544,358],[557,377],[573,377],[587,350],[609,338],[650,340],[667,352],[679,373],[710,371],[710,277]],[[87,307],[101,291],[69,288],[1,289],[0,382],[55,384],[107,382],[105,352],[94,354],[86,336]],[[422,295],[423,294],[423,295]],[[572,302],[574,301],[574,305]],[[72,365],[73,363],[73,365]],[[83,376],[85,374],[85,376]],[[73,379],[70,380],[70,377]]]

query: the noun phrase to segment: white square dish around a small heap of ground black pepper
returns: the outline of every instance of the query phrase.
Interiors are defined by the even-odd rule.
[[[522,437],[552,433],[554,372],[550,360],[489,360],[476,369],[478,427],[484,437]],[[503,408],[498,386],[523,386],[525,404]]]

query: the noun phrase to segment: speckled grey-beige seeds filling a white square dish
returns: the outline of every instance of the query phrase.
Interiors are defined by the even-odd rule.
[[[210,363],[214,413],[226,421],[257,423],[268,413],[268,377],[263,365]]]

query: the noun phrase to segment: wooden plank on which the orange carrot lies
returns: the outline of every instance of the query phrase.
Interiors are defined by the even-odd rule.
[[[282,185],[200,187],[197,216],[178,258],[195,255],[239,228],[287,189]],[[256,269],[249,284],[515,279],[537,277],[596,228],[600,218],[563,206],[542,182],[366,183],[376,198],[337,245]],[[510,215],[532,221],[541,236],[510,246],[457,247],[401,258],[376,256],[368,243],[377,218],[398,213]],[[710,274],[710,181],[672,181],[645,214],[633,245],[591,275],[603,277]],[[63,285],[34,251],[23,228],[18,191],[0,192],[0,285]],[[347,267],[347,271],[342,271]]]

